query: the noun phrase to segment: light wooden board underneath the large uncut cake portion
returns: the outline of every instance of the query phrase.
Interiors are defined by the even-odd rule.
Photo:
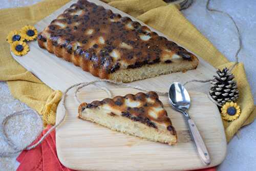
[[[129,16],[134,21],[139,22],[141,25],[145,25],[140,22],[140,20],[105,4],[101,1],[97,0],[89,0],[90,2],[94,2],[97,5],[101,5],[106,9],[111,9],[115,13],[119,13],[122,16]],[[42,19],[38,22],[35,27],[38,32],[44,30],[53,19],[55,19],[59,14],[61,14],[65,9],[69,8],[73,3],[77,1],[71,1],[65,6],[53,12],[48,17]],[[146,25],[145,25],[146,26]],[[164,36],[161,32],[147,26],[152,31],[158,33],[160,36]],[[168,37],[166,37],[169,39]],[[170,39],[169,39],[170,40]],[[71,62],[67,62],[61,58],[56,57],[54,54],[49,53],[45,49],[41,49],[38,47],[37,41],[28,42],[30,52],[24,56],[15,56],[13,57],[16,61],[18,61],[22,66],[24,66],[27,70],[31,71],[35,76],[37,76],[41,81],[45,82],[50,88],[54,90],[65,91],[69,86],[74,83],[84,82],[84,81],[92,81],[98,79],[94,77],[88,72],[82,71],[81,68],[76,67]],[[189,51],[189,50],[188,50]],[[199,66],[196,70],[189,70],[185,73],[172,73],[167,75],[162,75],[155,78],[148,78],[145,80],[135,81],[131,84],[147,87],[150,89],[154,88],[166,88],[168,89],[171,82],[177,81],[184,83],[187,80],[191,79],[209,79],[215,73],[215,68],[210,66],[209,63],[205,62],[202,58],[198,57],[200,62]],[[105,84],[107,87],[109,84]],[[187,84],[187,89],[196,90],[201,92],[206,92],[209,90],[209,84],[207,83],[189,83]]]

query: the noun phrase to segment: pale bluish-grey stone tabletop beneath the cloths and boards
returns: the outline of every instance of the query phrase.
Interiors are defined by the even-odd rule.
[[[3,0],[2,0],[3,1]],[[1,2],[2,2],[1,1]],[[4,0],[1,8],[20,7],[31,5],[40,0]],[[194,4],[184,11],[184,15],[203,33],[229,60],[234,60],[234,54],[238,48],[237,34],[228,17],[223,14],[210,13],[205,9],[206,0],[194,1]],[[247,0],[214,0],[211,7],[228,12],[236,20],[243,37],[243,49],[239,54],[240,61],[244,63],[249,80],[254,102],[256,101],[256,1]],[[24,103],[14,99],[5,82],[0,81],[0,121],[10,114],[10,111],[28,109]],[[33,116],[15,117],[7,124],[10,138],[19,145],[26,145],[26,137],[35,135],[40,127],[40,120]],[[256,170],[256,122],[243,127],[240,138],[235,136],[228,144],[227,157],[218,166],[218,170]],[[10,150],[3,142],[0,132],[0,149]],[[17,156],[17,155],[16,155]],[[16,156],[0,158],[0,170],[15,170],[18,163]]]

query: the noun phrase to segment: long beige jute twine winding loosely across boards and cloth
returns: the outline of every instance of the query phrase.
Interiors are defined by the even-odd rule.
[[[191,3],[192,3],[192,2],[193,2],[193,1],[191,1]],[[234,26],[236,27],[237,33],[238,33],[239,49],[237,50],[236,55],[235,55],[236,61],[235,61],[234,65],[230,68],[230,72],[231,72],[231,71],[234,69],[234,67],[236,67],[236,66],[238,65],[238,54],[239,54],[239,52],[240,52],[241,49],[242,49],[242,37],[241,37],[241,33],[240,33],[240,30],[239,30],[239,28],[238,28],[236,22],[235,22],[234,19],[232,18],[232,16],[230,16],[230,15],[229,15],[228,13],[226,13],[226,12],[223,12],[223,11],[220,11],[220,10],[217,10],[217,9],[214,9],[214,8],[210,8],[210,7],[209,7],[209,2],[210,2],[210,0],[207,0],[206,9],[207,9],[208,11],[211,11],[211,12],[219,12],[219,13],[222,13],[222,14],[228,16],[228,17],[232,20]],[[181,8],[181,10],[188,8],[188,7],[191,5],[191,3],[188,3],[189,5],[186,6],[186,7],[184,7],[184,8]],[[185,4],[185,3],[184,3],[184,4]],[[183,5],[184,5],[184,4],[183,4]],[[182,7],[182,6],[181,6],[181,7]],[[202,83],[204,83],[204,82],[210,82],[210,81],[212,81],[212,79],[207,79],[207,80],[196,80],[196,79],[193,79],[193,80],[190,80],[190,81],[185,82],[185,83],[184,83],[184,86],[185,86],[185,84],[187,84],[187,83],[189,83],[189,82],[202,82]],[[19,152],[22,152],[23,150],[29,151],[30,149],[33,149],[33,148],[35,148],[37,145],[39,145],[54,129],[56,129],[56,127],[59,126],[59,125],[64,121],[64,119],[65,119],[65,117],[66,117],[66,111],[67,111],[66,105],[65,105],[66,95],[67,95],[67,93],[68,93],[72,88],[77,87],[77,89],[75,90],[75,95],[74,95],[74,96],[75,96],[75,99],[76,99],[76,101],[77,101],[78,103],[81,103],[81,102],[80,102],[79,99],[77,98],[77,93],[78,93],[79,90],[81,90],[83,87],[89,86],[90,84],[93,84],[93,85],[99,87],[100,89],[104,90],[106,93],[108,93],[108,95],[109,95],[110,98],[111,98],[112,95],[111,95],[110,90],[109,90],[108,88],[100,87],[98,84],[95,84],[95,83],[97,83],[97,82],[110,82],[110,83],[114,83],[114,84],[117,84],[117,85],[120,85],[120,86],[129,87],[129,88],[134,88],[134,89],[138,89],[138,90],[142,90],[142,91],[147,91],[147,92],[148,92],[148,91],[155,91],[155,90],[150,90],[150,89],[142,88],[142,87],[139,87],[139,86],[133,86],[133,85],[131,85],[131,84],[124,84],[123,82],[117,82],[117,81],[108,80],[108,79],[99,79],[99,80],[94,80],[94,81],[91,81],[91,82],[80,82],[80,83],[74,84],[73,86],[70,86],[70,87],[63,93],[63,96],[62,96],[62,99],[61,99],[61,105],[63,105],[64,115],[62,116],[62,118],[61,118],[57,123],[55,123],[55,125],[53,125],[53,126],[46,132],[45,135],[43,135],[35,144],[33,144],[33,145],[31,145],[31,146],[28,145],[28,146],[26,146],[26,147],[17,147],[17,146],[15,145],[15,143],[8,137],[8,135],[7,135],[7,133],[6,133],[6,130],[5,130],[5,124],[6,124],[6,122],[7,122],[9,119],[11,119],[12,117],[15,117],[15,116],[17,116],[17,115],[25,115],[25,114],[26,114],[26,115],[31,115],[31,114],[33,114],[33,115],[36,115],[38,118],[40,118],[39,114],[38,114],[36,111],[34,111],[34,110],[23,110],[23,111],[19,111],[19,112],[12,113],[11,115],[8,115],[7,117],[5,117],[4,120],[2,121],[1,125],[0,125],[0,129],[1,129],[2,132],[3,132],[4,140],[8,143],[8,145],[9,145],[10,147],[12,147],[12,148],[14,149],[14,151],[12,151],[12,152],[0,152],[0,157],[9,157],[9,156],[15,155],[15,154],[17,154],[17,153],[19,153]],[[159,94],[159,95],[167,95],[167,94],[168,94],[168,92],[159,92],[159,91],[155,91],[155,92],[156,92],[157,94]],[[222,106],[220,103],[218,103],[217,101],[215,101],[215,100],[209,95],[209,93],[208,93],[208,98],[209,98],[212,102],[214,102],[215,104],[217,104],[218,106]],[[24,113],[24,112],[27,112],[27,113]],[[42,127],[41,127],[40,131],[38,131],[37,136],[38,136],[41,132],[42,132]],[[36,137],[37,137],[37,136],[36,136]],[[33,141],[34,141],[34,140],[32,140],[29,144],[31,144]]]

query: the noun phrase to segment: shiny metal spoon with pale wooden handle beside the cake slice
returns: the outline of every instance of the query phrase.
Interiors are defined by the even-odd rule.
[[[209,165],[210,157],[204,141],[197,129],[195,122],[189,117],[188,113],[186,113],[190,106],[190,97],[187,90],[184,88],[184,86],[182,86],[181,83],[174,82],[170,85],[169,102],[174,109],[184,114],[188,123],[190,135],[197,147],[198,154],[204,164]]]

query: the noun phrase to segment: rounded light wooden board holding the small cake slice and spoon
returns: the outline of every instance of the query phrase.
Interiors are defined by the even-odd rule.
[[[111,89],[113,97],[138,92],[140,91],[136,89]],[[219,110],[206,94],[194,91],[189,94],[192,103],[188,113],[194,119],[208,148],[210,166],[218,165],[226,155],[226,138]],[[87,88],[78,96],[83,102],[107,97],[103,90]],[[60,162],[77,170],[169,171],[204,168],[205,165],[197,154],[183,115],[170,107],[167,96],[159,96],[159,99],[177,130],[178,143],[174,146],[125,135],[96,123],[78,119],[79,104],[73,94],[68,95],[65,122],[56,130],[56,147]],[[63,114],[63,106],[59,105],[57,121]]]

